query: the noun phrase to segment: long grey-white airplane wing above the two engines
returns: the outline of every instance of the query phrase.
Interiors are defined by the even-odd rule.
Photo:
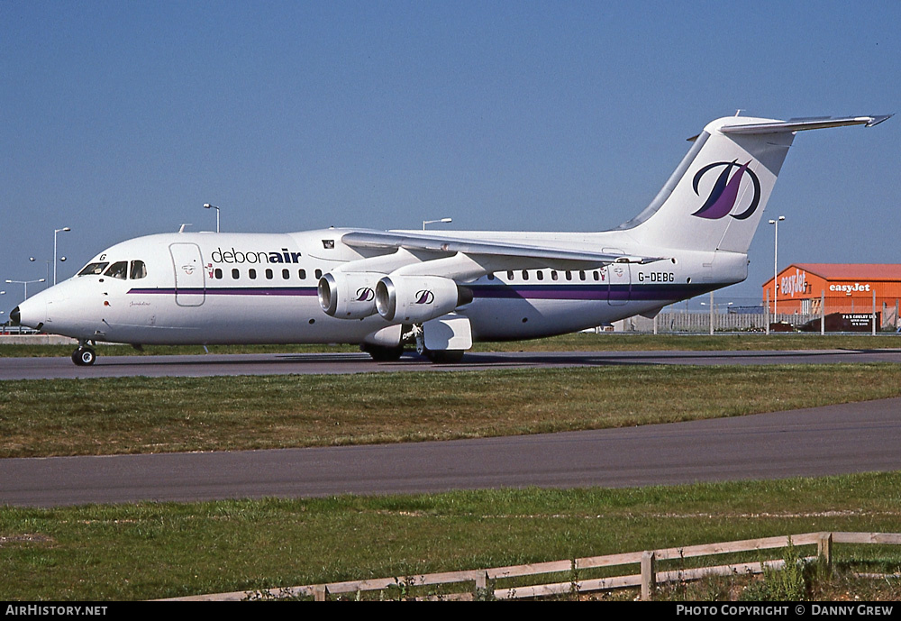
[[[569,250],[553,246],[534,246],[518,242],[496,242],[465,237],[392,231],[355,231],[353,233],[345,233],[341,241],[354,248],[378,248],[384,250],[403,248],[407,251],[435,252],[441,255],[459,252],[469,256],[521,258],[531,262],[572,261],[585,263],[585,269],[600,267],[609,263],[643,264],[663,259],[662,257],[642,257],[610,252]]]

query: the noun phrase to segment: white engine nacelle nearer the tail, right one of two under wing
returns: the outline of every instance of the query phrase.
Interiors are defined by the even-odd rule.
[[[386,276],[376,284],[378,315],[387,321],[422,324],[471,301],[472,291],[440,276]]]

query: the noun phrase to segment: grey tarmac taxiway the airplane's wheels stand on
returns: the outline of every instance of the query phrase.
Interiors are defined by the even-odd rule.
[[[790,352],[468,352],[458,364],[432,364],[414,353],[375,362],[364,353],[199,354],[100,356],[92,367],[65,358],[0,358],[2,379],[210,377],[214,375],[342,374],[591,367],[629,364],[901,363],[901,349]]]

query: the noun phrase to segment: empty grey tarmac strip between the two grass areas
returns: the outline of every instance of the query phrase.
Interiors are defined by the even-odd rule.
[[[452,442],[0,460],[0,503],[674,485],[901,470],[901,398],[627,429]]]

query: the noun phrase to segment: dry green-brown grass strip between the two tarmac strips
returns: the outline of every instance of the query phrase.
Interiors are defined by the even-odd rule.
[[[2,383],[0,457],[536,434],[901,396],[894,364],[604,366]]]

